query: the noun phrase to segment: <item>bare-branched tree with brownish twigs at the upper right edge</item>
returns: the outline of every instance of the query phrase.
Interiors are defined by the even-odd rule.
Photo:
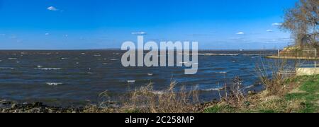
[[[300,0],[286,10],[281,29],[291,31],[295,43],[301,47],[318,48],[318,0]]]

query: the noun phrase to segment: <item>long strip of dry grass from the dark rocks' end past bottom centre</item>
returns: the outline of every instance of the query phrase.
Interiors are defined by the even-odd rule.
[[[116,112],[116,113],[194,113],[200,111],[198,107],[197,90],[186,92],[184,87],[177,92],[177,82],[170,83],[166,90],[158,93],[153,90],[153,84],[142,86],[126,97],[120,97],[119,104],[107,101],[108,92],[102,92],[104,101],[100,106],[87,107],[84,112]],[[101,107],[103,105],[103,107]]]

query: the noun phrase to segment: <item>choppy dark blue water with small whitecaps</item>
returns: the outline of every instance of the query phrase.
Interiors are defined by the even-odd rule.
[[[225,80],[242,78],[245,87],[260,89],[255,63],[272,51],[202,51],[198,73],[184,75],[184,68],[124,68],[116,50],[0,51],[0,98],[40,101],[59,106],[96,102],[108,90],[121,95],[147,83],[163,90],[171,80],[187,90],[195,85],[202,100],[218,98]],[[177,87],[178,89],[178,87]]]

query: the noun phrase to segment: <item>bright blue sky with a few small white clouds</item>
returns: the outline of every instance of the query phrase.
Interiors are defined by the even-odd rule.
[[[200,49],[282,48],[297,0],[0,0],[0,49],[108,49],[145,40]]]

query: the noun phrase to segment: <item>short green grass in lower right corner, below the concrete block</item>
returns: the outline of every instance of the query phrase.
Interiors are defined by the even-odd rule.
[[[300,76],[286,80],[286,85],[300,83],[299,90],[302,92],[288,93],[278,100],[259,102],[250,109],[230,107],[227,104],[216,104],[206,109],[205,113],[317,113],[319,112],[319,75]]]

